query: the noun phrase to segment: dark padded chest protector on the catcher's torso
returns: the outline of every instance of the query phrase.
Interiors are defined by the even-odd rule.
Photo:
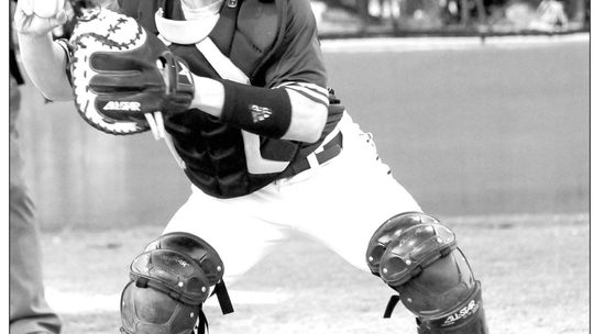
[[[266,86],[265,69],[280,56],[285,40],[287,1],[224,0],[220,19],[209,34],[221,53],[248,75],[253,86]],[[122,0],[120,4],[122,13],[134,18],[148,32],[155,34],[158,31],[154,14],[158,8],[164,8],[164,16],[167,19],[184,18],[180,1]],[[172,44],[169,48],[188,63],[194,74],[220,79],[196,45]],[[292,175],[290,164],[288,168],[276,172],[250,172],[241,130],[205,112],[191,110],[176,115],[165,123],[165,127],[186,165],[186,175],[196,187],[210,196],[244,196]],[[323,134],[331,130],[324,130]],[[305,158],[321,141],[305,144],[261,136],[260,158],[294,163]]]

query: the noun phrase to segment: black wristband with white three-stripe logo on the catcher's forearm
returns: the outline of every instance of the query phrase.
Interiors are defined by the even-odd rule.
[[[272,138],[279,138],[287,132],[292,107],[284,89],[253,87],[230,80],[221,82],[224,87],[223,122]]]

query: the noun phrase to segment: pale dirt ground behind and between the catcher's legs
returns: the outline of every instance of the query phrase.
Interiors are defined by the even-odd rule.
[[[588,333],[588,215],[447,220],[483,282],[491,334]],[[62,313],[64,334],[118,333],[117,296],[128,265],[160,231],[46,234],[46,285],[50,297],[62,296],[50,301]],[[388,288],[302,235],[232,286],[232,299],[233,291],[278,298],[254,303],[240,298],[235,313],[226,316],[209,301],[215,334],[415,333],[402,305],[392,319],[382,319]]]

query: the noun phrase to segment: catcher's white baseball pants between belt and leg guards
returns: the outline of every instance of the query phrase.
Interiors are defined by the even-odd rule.
[[[240,198],[217,199],[193,186],[163,233],[188,232],[211,244],[224,263],[228,285],[292,230],[369,270],[365,252],[375,230],[398,213],[421,209],[377,158],[369,134],[346,113],[338,126],[343,149],[328,163]]]

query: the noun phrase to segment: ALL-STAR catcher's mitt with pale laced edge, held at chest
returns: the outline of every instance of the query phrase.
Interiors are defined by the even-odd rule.
[[[163,129],[162,112],[188,110],[194,79],[187,64],[135,20],[86,10],[72,41],[75,103],[92,126],[111,134],[155,132]]]

